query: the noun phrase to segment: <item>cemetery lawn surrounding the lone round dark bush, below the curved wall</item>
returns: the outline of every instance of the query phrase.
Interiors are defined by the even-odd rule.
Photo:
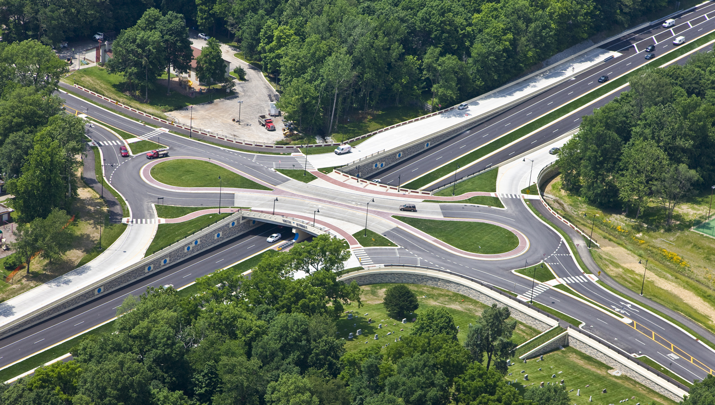
[[[337,336],[345,338],[345,348],[348,351],[359,350],[368,345],[377,344],[383,346],[385,343],[395,341],[395,338],[398,336],[409,335],[410,328],[412,327],[412,318],[417,318],[420,316],[421,311],[424,311],[425,308],[429,308],[430,306],[443,306],[450,315],[453,316],[455,325],[460,326],[460,332],[457,334],[457,338],[460,342],[464,342],[464,339],[467,337],[467,332],[469,331],[469,324],[476,321],[477,316],[487,307],[479,301],[458,293],[453,293],[452,291],[422,286],[420,284],[407,284],[410,290],[417,293],[420,308],[415,311],[414,315],[408,315],[408,323],[403,324],[401,323],[401,319],[390,318],[387,312],[385,312],[385,306],[383,305],[385,290],[394,285],[395,284],[371,284],[368,286],[360,286],[360,299],[363,302],[363,306],[359,309],[356,305],[345,306],[345,311],[352,310],[353,316],[357,316],[348,321],[347,315],[344,314],[336,323],[337,331],[340,333]],[[427,297],[424,298],[424,296]],[[365,313],[368,315],[365,316]],[[372,318],[373,323],[368,323],[368,318]],[[382,329],[378,328],[380,323],[383,324]],[[395,325],[393,325],[393,323],[395,323]],[[358,329],[363,329],[363,336],[357,336],[352,340],[348,340],[347,334],[350,332],[355,333]],[[400,331],[400,329],[404,330]],[[396,336],[385,336],[388,332],[394,332]],[[380,338],[376,341],[373,339],[375,333],[380,334]],[[531,326],[517,323],[516,331],[514,331],[514,336],[511,340],[517,344],[521,344],[538,335],[538,333],[539,331]],[[365,341],[368,341],[368,343],[365,343]]]

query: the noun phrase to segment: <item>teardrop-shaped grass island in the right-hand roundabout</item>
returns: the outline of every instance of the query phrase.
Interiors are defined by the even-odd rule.
[[[489,223],[425,220],[398,215],[393,215],[393,218],[467,252],[493,255],[509,252],[519,245],[518,238],[511,231]]]

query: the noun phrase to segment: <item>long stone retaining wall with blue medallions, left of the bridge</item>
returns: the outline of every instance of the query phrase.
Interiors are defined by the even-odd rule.
[[[171,245],[163,250],[160,250],[153,255],[144,258],[139,263],[135,263],[127,268],[119,270],[117,273],[108,275],[102,280],[92,283],[92,285],[82,288],[81,290],[69,296],[61,298],[54,303],[51,303],[28,315],[17,319],[14,322],[8,323],[0,328],[0,337],[10,333],[20,331],[28,326],[34,325],[40,321],[62,313],[71,308],[79,306],[94,298],[98,298],[105,293],[114,291],[117,288],[126,286],[140,278],[144,278],[151,272],[161,270],[164,267],[179,263],[182,260],[190,258],[194,255],[202,253],[204,250],[213,248],[215,245],[224,243],[231,238],[235,238],[248,230],[261,225],[260,221],[252,218],[243,218],[242,213],[235,213],[228,218],[220,220],[218,223],[209,226],[208,228],[191,235],[189,238],[180,240],[174,245]]]

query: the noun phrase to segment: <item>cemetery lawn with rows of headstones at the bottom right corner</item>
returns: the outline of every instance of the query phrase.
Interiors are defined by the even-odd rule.
[[[523,381],[521,370],[525,370],[529,375],[529,381]],[[573,389],[568,393],[571,404],[585,403],[589,396],[593,397],[594,405],[618,404],[626,398],[633,404],[636,402],[649,404],[651,401],[667,405],[676,404],[628,376],[608,374],[609,370],[611,370],[610,366],[586,356],[575,348],[566,347],[563,350],[544,354],[543,361],[516,363],[509,369],[514,375],[506,376],[506,379],[511,381],[516,379],[516,384],[512,384],[515,386],[526,384],[526,389],[538,389],[541,381],[558,384],[563,379],[566,388]],[[553,374],[556,374],[556,377],[551,378]],[[581,396],[576,396],[579,389]],[[603,389],[607,389],[606,394],[602,393]],[[636,398],[631,399],[631,396]]]

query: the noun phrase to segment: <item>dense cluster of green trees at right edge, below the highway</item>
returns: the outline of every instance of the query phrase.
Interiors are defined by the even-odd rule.
[[[593,115],[561,148],[563,188],[603,207],[649,203],[674,208],[715,181],[715,58],[693,54],[683,66],[632,77],[628,92]]]

